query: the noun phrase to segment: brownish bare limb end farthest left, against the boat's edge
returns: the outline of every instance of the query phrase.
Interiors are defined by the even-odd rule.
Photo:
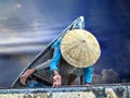
[[[35,72],[35,69],[27,70],[22,76],[21,76],[21,83],[25,85],[27,78]]]

